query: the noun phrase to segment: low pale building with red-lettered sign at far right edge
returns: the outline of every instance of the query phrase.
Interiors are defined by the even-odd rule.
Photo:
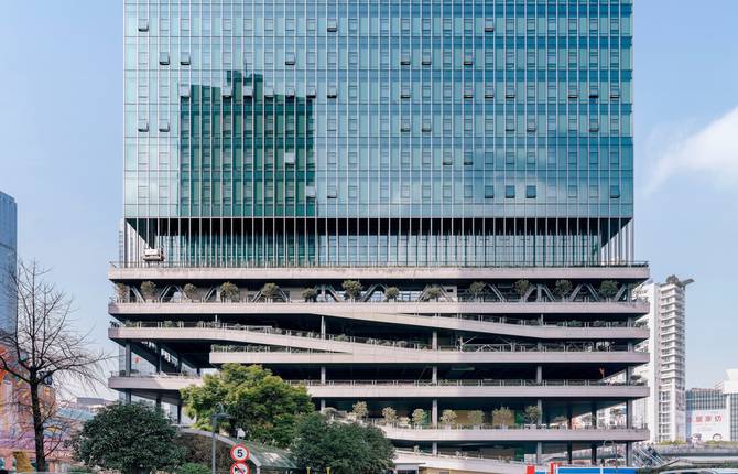
[[[686,391],[687,440],[699,443],[738,440],[738,369],[715,388]]]

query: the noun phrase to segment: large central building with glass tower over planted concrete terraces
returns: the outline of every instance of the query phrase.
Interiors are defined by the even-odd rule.
[[[648,438],[631,0],[124,9],[112,388],[262,364],[405,461]]]

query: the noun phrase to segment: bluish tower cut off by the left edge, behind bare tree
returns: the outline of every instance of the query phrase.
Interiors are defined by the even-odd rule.
[[[17,301],[9,293],[18,260],[18,209],[15,200],[0,191],[0,331],[15,331]]]

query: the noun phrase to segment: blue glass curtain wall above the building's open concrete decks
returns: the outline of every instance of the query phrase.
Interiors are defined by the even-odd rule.
[[[127,0],[121,260],[630,262],[631,13]]]

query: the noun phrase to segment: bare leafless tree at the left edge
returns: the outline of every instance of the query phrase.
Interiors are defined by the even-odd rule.
[[[35,261],[19,261],[18,270],[8,272],[7,284],[0,289],[17,303],[18,315],[14,333],[0,332],[0,369],[14,375],[29,391],[26,408],[30,405],[39,472],[47,471],[46,455],[61,444],[54,437],[44,438],[47,429],[61,431],[56,397],[48,395],[48,387],[101,383],[100,363],[109,358],[89,348],[89,333],[74,328],[72,297],[47,281],[46,274]]]

